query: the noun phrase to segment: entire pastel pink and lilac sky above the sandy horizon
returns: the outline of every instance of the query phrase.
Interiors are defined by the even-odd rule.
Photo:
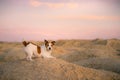
[[[0,0],[0,41],[120,39],[120,0]]]

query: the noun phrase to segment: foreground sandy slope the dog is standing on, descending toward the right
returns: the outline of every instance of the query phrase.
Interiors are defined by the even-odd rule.
[[[120,80],[120,76],[59,59],[17,60],[0,66],[0,80]]]

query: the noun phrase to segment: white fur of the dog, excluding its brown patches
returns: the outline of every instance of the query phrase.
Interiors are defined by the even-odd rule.
[[[49,43],[50,44],[50,43]],[[45,45],[40,46],[41,47],[41,53],[39,54],[37,52],[37,46],[30,43],[28,44],[26,47],[24,47],[24,50],[26,52],[27,55],[27,60],[31,60],[32,61],[32,57],[40,57],[42,56],[43,58],[55,58],[51,55],[51,50],[52,50],[52,46],[49,45],[47,48],[51,47],[51,50],[47,50],[47,48],[45,47]]]

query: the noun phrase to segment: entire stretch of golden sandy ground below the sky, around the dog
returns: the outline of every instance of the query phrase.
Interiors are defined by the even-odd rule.
[[[25,60],[21,43],[0,42],[0,80],[120,80],[120,40],[56,42],[57,59],[32,62]]]

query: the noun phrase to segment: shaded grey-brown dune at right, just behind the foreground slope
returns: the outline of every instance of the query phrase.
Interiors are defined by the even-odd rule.
[[[111,59],[111,58],[89,58],[85,60],[79,60],[73,62],[75,64],[99,69],[99,70],[106,70],[120,74],[120,60]]]

